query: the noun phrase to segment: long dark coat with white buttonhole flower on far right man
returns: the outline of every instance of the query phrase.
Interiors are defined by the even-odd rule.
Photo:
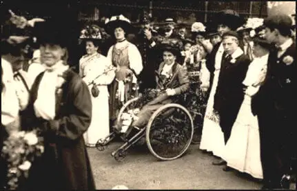
[[[252,98],[252,112],[258,116],[263,179],[279,184],[296,157],[296,44],[280,58],[277,54],[275,49],[269,52],[266,78]],[[291,63],[286,63],[288,57]]]

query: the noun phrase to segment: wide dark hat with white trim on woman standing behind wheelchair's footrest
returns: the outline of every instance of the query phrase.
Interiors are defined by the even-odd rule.
[[[123,28],[125,33],[130,33],[133,30],[133,26],[131,25],[131,21],[123,16],[123,14],[119,16],[113,16],[111,17],[106,23],[105,23],[105,30],[110,35],[114,34],[114,30],[116,28]]]

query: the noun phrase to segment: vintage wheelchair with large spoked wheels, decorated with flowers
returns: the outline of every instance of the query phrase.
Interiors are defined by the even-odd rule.
[[[116,161],[122,161],[127,149],[144,139],[150,152],[162,161],[181,157],[191,143],[198,143],[198,132],[203,123],[203,97],[199,87],[199,72],[189,71],[190,90],[176,98],[175,103],[162,105],[156,110],[145,128],[136,130],[136,134],[129,140],[122,139],[125,143],[112,152]],[[123,125],[124,116],[133,120],[136,113],[143,107],[143,96],[134,97],[127,101],[116,119],[117,125]],[[132,122],[131,122],[132,123]],[[103,151],[119,132],[110,133],[105,139],[99,139],[96,148]]]

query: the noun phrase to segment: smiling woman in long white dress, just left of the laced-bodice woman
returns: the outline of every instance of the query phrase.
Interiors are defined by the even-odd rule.
[[[110,70],[112,63],[102,54],[99,54],[98,49],[98,39],[85,39],[87,54],[79,60],[79,74],[83,81],[88,84],[90,93],[93,86],[99,90],[97,97],[91,93],[92,121],[88,131],[84,134],[85,143],[89,147],[94,147],[99,139],[105,139],[110,134],[107,85],[114,79],[114,70]],[[100,77],[98,77],[99,75]]]

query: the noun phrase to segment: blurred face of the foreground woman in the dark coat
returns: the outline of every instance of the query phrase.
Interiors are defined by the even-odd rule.
[[[65,55],[65,48],[57,44],[44,43],[40,46],[41,63],[46,66],[54,66]]]

